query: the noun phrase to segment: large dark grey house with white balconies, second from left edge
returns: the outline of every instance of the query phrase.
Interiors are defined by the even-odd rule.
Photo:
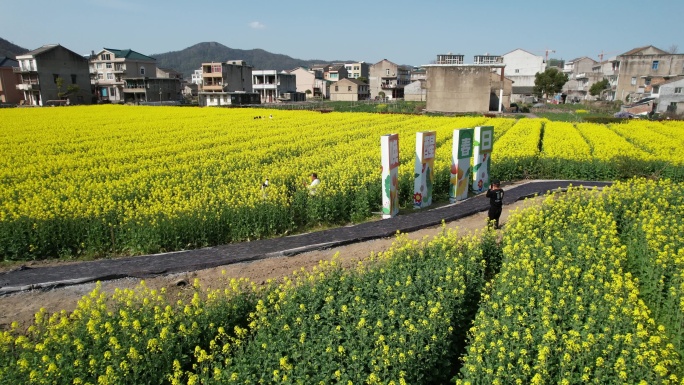
[[[25,103],[44,106],[53,103],[90,104],[88,59],[59,44],[48,44],[17,56],[21,75],[17,89]]]

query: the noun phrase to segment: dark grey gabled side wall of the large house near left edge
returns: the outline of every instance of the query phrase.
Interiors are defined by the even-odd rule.
[[[49,100],[57,100],[57,83],[54,75],[64,79],[62,92],[71,84],[71,75],[76,75],[76,83],[79,92],[69,96],[71,104],[91,104],[92,94],[90,90],[90,71],[88,60],[78,56],[63,47],[55,47],[41,53],[36,58],[38,66],[38,78],[40,81],[41,105],[46,105]]]

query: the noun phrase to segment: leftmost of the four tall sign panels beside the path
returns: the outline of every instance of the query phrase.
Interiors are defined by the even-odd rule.
[[[382,218],[399,213],[399,134],[380,137],[382,158]]]

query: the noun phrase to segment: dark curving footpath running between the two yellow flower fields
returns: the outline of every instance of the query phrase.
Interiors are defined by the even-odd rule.
[[[593,181],[526,181],[504,185],[504,204],[569,186],[604,187],[611,182]],[[489,208],[484,194],[464,201],[426,209],[391,219],[361,223],[312,233],[251,242],[234,243],[203,249],[137,257],[87,261],[46,267],[20,267],[0,273],[0,295],[25,290],[51,289],[92,281],[133,277],[149,278],[158,275],[202,270],[257,259],[291,256],[312,250],[328,249],[371,239],[391,237],[400,232],[411,232],[464,218]]]

